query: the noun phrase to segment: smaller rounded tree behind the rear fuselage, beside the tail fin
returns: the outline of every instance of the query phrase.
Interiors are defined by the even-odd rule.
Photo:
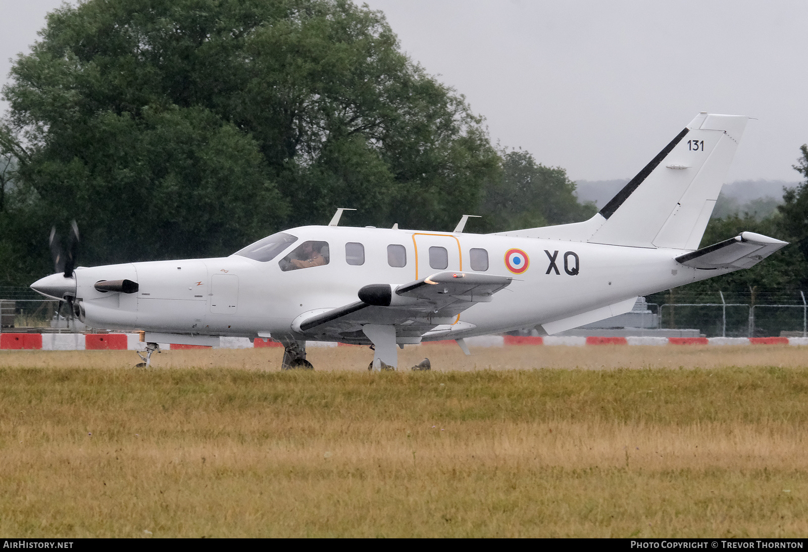
[[[578,202],[575,183],[561,167],[541,165],[523,150],[501,153],[502,171],[482,204],[492,231],[579,222],[597,212],[595,204]]]

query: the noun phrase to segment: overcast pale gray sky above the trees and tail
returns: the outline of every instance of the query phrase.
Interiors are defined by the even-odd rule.
[[[402,49],[572,179],[637,173],[697,112],[757,117],[728,182],[797,180],[808,2],[369,0]],[[0,0],[0,74],[58,0]],[[6,106],[3,105],[3,108]]]

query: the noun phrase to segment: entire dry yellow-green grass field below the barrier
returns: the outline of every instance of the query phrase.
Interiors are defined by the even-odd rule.
[[[808,533],[805,348],[475,352],[0,352],[0,535]]]

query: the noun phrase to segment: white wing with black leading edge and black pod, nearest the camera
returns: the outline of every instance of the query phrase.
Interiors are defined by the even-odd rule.
[[[395,287],[370,284],[359,291],[360,301],[310,314],[296,320],[292,329],[312,339],[338,338],[345,343],[369,343],[362,332],[364,324],[396,327],[399,338],[412,343],[429,332],[447,333],[457,315],[471,305],[489,302],[494,293],[511,284],[509,276],[491,276],[473,272],[438,272]],[[470,324],[460,322],[454,329]],[[447,326],[447,328],[441,328]]]

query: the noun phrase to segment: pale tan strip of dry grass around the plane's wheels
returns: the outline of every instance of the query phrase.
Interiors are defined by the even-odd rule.
[[[724,366],[808,367],[808,348],[790,345],[597,345],[586,347],[520,345],[472,348],[464,356],[455,345],[405,346],[398,365],[407,369],[425,356],[436,371],[557,369],[692,369]],[[280,370],[281,348],[191,349],[163,351],[152,357],[155,368],[226,368]],[[319,371],[362,372],[372,360],[367,347],[309,348]],[[140,362],[132,351],[0,351],[0,366],[20,368],[131,368]]]

